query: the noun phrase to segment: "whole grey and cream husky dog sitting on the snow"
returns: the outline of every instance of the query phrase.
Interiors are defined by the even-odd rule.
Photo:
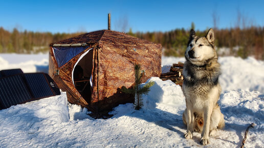
[[[209,134],[225,126],[224,115],[217,104],[221,93],[218,83],[221,70],[212,29],[205,37],[197,37],[193,29],[190,31],[185,58],[183,93],[186,110],[183,122],[187,131],[184,137],[191,139],[193,131],[202,132],[201,143],[206,145],[209,144]]]

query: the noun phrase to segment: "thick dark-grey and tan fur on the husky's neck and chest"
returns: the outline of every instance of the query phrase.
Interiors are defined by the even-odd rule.
[[[191,99],[192,104],[203,106],[201,103],[210,97],[213,88],[219,89],[220,74],[220,65],[217,61],[212,62],[210,67],[197,67],[186,61],[183,69],[183,92],[186,99]]]

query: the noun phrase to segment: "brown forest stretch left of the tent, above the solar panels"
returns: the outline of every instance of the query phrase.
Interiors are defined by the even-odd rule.
[[[78,33],[51,33],[51,32],[19,32],[0,27],[0,53],[39,53],[49,51],[51,43],[82,34]]]

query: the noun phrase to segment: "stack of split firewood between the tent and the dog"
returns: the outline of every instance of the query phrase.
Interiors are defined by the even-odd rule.
[[[170,67],[169,72],[162,73],[160,78],[163,81],[171,80],[175,84],[179,84],[180,86],[182,86],[183,85],[183,75],[182,75],[183,65],[184,65],[183,62],[178,62],[178,64],[173,64]]]

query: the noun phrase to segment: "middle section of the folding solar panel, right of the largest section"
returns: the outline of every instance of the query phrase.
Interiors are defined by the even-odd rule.
[[[43,73],[28,73],[25,74],[25,78],[33,98],[54,96]]]

